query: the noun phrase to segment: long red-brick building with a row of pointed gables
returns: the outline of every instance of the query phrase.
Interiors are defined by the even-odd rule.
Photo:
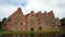
[[[29,32],[29,30],[58,30],[61,25],[58,17],[55,18],[53,11],[43,13],[30,11],[29,14],[24,15],[21,8],[18,8],[12,15],[8,17],[4,23],[4,30],[12,32]]]

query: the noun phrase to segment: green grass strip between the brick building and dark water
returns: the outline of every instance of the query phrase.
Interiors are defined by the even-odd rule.
[[[35,33],[42,33],[42,34],[48,34],[48,33],[61,33],[61,30],[38,30],[38,32],[24,32],[24,33],[13,33],[13,32],[0,32],[0,35],[5,35],[5,34],[35,34]]]

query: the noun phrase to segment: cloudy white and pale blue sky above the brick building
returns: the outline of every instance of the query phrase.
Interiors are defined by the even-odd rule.
[[[17,8],[22,8],[24,14],[53,10],[56,17],[65,17],[65,0],[0,0],[0,20],[9,17]]]

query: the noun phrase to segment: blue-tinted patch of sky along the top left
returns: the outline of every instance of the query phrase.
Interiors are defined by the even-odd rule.
[[[27,4],[27,1],[26,0],[0,0],[0,4],[12,4],[12,5],[25,7]]]

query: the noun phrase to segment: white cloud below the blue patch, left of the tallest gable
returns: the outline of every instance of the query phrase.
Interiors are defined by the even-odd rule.
[[[0,20],[8,17],[16,10],[16,7],[13,5],[0,5]]]

